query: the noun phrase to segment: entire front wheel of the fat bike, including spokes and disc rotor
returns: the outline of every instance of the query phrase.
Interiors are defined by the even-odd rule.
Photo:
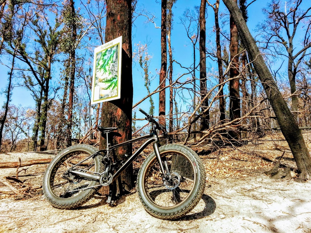
[[[159,148],[169,169],[164,178],[155,153],[143,162],[138,173],[138,195],[147,212],[161,219],[176,219],[191,211],[202,198],[205,169],[199,156],[183,145]]]

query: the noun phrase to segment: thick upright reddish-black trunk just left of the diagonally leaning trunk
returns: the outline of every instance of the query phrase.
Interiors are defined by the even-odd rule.
[[[234,0],[237,3],[237,0]],[[234,23],[232,16],[230,15],[230,78],[237,77],[239,75],[239,34],[238,29]],[[230,120],[233,121],[236,118],[241,117],[240,107],[240,83],[239,79],[233,79],[229,82],[230,89],[230,107],[229,115]],[[241,133],[238,131],[229,131],[231,138],[239,140]]]

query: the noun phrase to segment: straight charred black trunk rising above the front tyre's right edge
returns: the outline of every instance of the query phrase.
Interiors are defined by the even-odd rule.
[[[207,94],[207,86],[206,86],[206,48],[205,48],[205,40],[206,40],[206,20],[205,20],[205,9],[206,9],[206,0],[201,0],[200,6],[200,95],[201,99],[203,99]],[[208,107],[208,98],[202,103],[201,111],[203,112],[206,107]],[[210,124],[210,114],[209,111],[204,113],[201,117],[200,122],[200,131],[208,130]],[[200,135],[201,137],[203,134]]]

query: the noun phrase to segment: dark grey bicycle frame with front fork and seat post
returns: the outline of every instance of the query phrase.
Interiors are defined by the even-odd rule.
[[[109,182],[109,183],[112,183],[114,182],[114,180],[116,180],[118,178],[118,176],[121,174],[122,171],[124,171],[134,160],[135,158],[137,158],[137,156],[149,145],[153,142],[153,149],[154,149],[154,152],[156,153],[156,157],[159,161],[159,164],[160,164],[160,168],[161,168],[161,171],[162,171],[162,174],[166,174],[165,170],[164,170],[164,167],[163,167],[163,162],[161,160],[161,155],[160,155],[160,150],[159,150],[159,146],[158,146],[158,142],[159,142],[159,138],[158,138],[158,135],[156,133],[156,130],[154,130],[154,132],[150,133],[150,134],[147,134],[147,135],[143,135],[141,137],[138,137],[138,138],[135,138],[135,139],[131,139],[131,140],[128,140],[126,142],[123,142],[123,143],[120,143],[120,144],[117,144],[117,145],[113,145],[113,146],[109,146],[109,141],[108,141],[108,133],[106,133],[106,139],[107,139],[107,148],[106,149],[103,149],[103,150],[99,150],[99,151],[96,151],[94,154],[90,155],[88,158],[80,161],[79,163],[77,163],[76,165],[72,166],[69,170],[69,172],[71,173],[74,173],[74,174],[77,174],[79,176],[82,176],[82,177],[85,177],[85,178],[88,178],[88,179],[91,179],[91,180],[95,180],[95,181],[100,181],[100,178],[101,178],[101,175],[104,174],[104,172],[102,172],[101,174],[99,175],[92,175],[92,174],[89,174],[89,173],[86,173],[86,172],[82,172],[82,171],[74,171],[72,170],[74,167],[78,166],[79,164],[81,164],[82,162],[88,160],[89,158],[93,157],[93,156],[96,156],[97,154],[99,153],[102,153],[102,152],[105,152],[106,155],[109,155],[110,151],[115,149],[115,148],[118,148],[120,146],[124,146],[124,145],[127,145],[127,144],[130,144],[132,142],[136,142],[136,141],[139,141],[139,140],[142,140],[142,139],[145,139],[145,138],[148,138],[133,154],[132,156],[130,156],[122,165],[121,167],[119,167],[119,169],[114,173],[114,175],[112,176],[112,180]],[[167,168],[167,164],[165,163],[164,164],[165,168],[166,168],[166,171],[168,171],[168,168]]]

